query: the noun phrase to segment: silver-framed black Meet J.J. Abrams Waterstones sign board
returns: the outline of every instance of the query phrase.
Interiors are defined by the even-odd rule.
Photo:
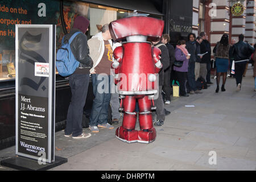
[[[55,25],[18,24],[16,155],[54,162]]]

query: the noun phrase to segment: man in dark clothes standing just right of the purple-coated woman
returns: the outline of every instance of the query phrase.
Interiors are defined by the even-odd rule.
[[[190,53],[190,59],[188,62],[188,74],[187,74],[187,92],[190,94],[202,93],[196,88],[196,78],[195,78],[195,63],[196,63],[196,35],[193,33],[188,34],[188,42],[186,43],[186,49]]]

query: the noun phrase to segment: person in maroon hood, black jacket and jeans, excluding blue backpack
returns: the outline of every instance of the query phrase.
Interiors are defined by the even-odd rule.
[[[64,36],[64,42],[68,41],[75,32],[80,31],[71,43],[71,51],[76,60],[80,62],[76,71],[69,76],[69,86],[72,92],[71,102],[68,107],[67,123],[65,128],[65,137],[88,138],[90,134],[82,133],[82,113],[86,101],[87,90],[89,86],[90,68],[93,61],[89,56],[89,47],[85,32],[88,30],[89,20],[77,16],[73,29]]]

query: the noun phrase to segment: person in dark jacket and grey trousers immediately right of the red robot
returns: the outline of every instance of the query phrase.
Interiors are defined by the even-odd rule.
[[[166,111],[164,110],[164,102],[162,97],[162,89],[164,84],[164,71],[169,67],[170,65],[170,58],[169,53],[166,45],[164,45],[160,40],[158,42],[152,42],[155,47],[159,48],[161,50],[161,63],[163,64],[163,68],[159,72],[159,90],[158,90],[158,98],[155,100],[155,106],[156,106],[156,122],[154,123],[155,126],[162,126],[164,123]],[[154,119],[155,114],[152,114],[152,118]]]

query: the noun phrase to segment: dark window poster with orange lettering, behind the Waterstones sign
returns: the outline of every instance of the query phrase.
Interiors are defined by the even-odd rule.
[[[0,0],[0,50],[15,49],[15,24],[56,24],[59,6],[56,0]]]

